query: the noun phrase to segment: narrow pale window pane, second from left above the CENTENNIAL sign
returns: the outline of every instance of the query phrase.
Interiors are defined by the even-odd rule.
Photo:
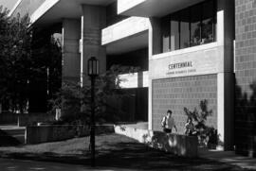
[[[171,17],[171,50],[179,49],[179,16],[174,14]]]

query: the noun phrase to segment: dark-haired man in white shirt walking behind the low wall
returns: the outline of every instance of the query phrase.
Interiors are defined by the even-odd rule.
[[[166,115],[162,119],[161,125],[165,133],[172,133],[173,128],[175,128],[177,132],[174,117],[172,116],[172,114],[173,114],[173,111],[168,110]]]

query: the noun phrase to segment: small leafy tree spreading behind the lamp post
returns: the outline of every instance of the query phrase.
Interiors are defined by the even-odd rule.
[[[134,73],[135,67],[113,65],[108,71],[96,78],[95,83],[95,117],[97,123],[119,121],[120,111],[111,105],[111,98],[119,99],[124,94],[120,89],[119,78],[123,73]],[[62,120],[71,124],[90,124],[91,86],[79,83],[65,82],[62,90],[52,98],[53,106],[50,112],[62,108]]]

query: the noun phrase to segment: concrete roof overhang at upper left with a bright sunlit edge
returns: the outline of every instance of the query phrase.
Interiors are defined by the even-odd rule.
[[[46,0],[30,16],[32,26],[49,26],[64,18],[81,19],[82,5],[107,6],[115,0]]]

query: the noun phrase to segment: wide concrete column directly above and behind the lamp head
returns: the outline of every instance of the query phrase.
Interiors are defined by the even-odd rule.
[[[106,71],[106,49],[101,46],[101,29],[106,26],[105,8],[82,5],[81,22],[81,81],[87,84],[87,60],[94,56],[99,60],[100,73]]]

